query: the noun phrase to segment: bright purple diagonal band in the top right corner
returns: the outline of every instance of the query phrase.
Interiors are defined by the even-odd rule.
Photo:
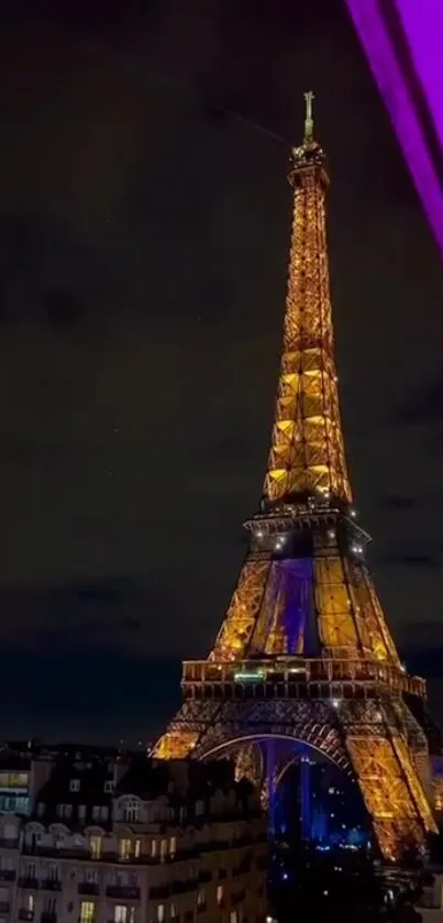
[[[443,136],[443,55],[439,55],[439,44],[442,46],[443,41],[442,2],[397,0],[413,64],[440,140]],[[443,190],[413,100],[397,63],[390,35],[379,12],[379,2],[347,0],[347,7],[443,255]]]

